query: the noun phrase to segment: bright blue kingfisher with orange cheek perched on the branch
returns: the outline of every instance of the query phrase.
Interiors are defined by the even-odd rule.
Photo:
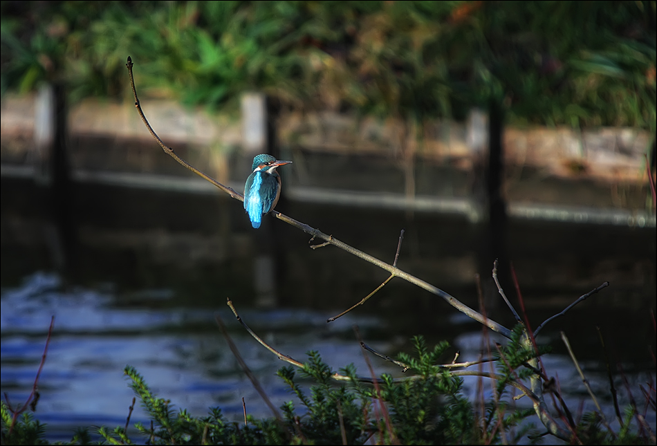
[[[281,196],[281,176],[276,168],[291,163],[267,154],[253,158],[253,173],[246,178],[244,186],[244,209],[253,227],[260,227],[262,216],[274,209]]]

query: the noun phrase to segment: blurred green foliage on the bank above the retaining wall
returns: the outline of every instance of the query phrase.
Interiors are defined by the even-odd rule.
[[[421,120],[501,102],[512,124],[655,131],[655,1],[1,3],[1,91],[149,95]]]

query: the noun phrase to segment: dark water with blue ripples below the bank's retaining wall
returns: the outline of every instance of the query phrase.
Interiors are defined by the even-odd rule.
[[[70,438],[76,426],[124,425],[133,396],[122,374],[126,364],[135,366],[159,396],[192,414],[219,406],[240,420],[245,398],[250,414],[270,416],[214,315],[228,325],[272,402],[292,399],[275,376],[285,364],[235,321],[227,298],[281,353],[304,360],[306,351],[316,350],[336,370],[353,362],[369,375],[354,324],[365,342],[391,356],[409,351],[413,335],[432,343],[448,340],[454,346],[450,355],[460,350],[463,360],[479,354],[476,323],[401,279],[326,324],[387,273],[331,246],[311,250],[307,234],[275,219],[266,218],[260,230],[252,230],[240,203],[219,194],[77,185],[63,231],[57,225],[62,216],[53,218],[47,194],[31,183],[3,179],[1,197],[1,391],[13,405],[27,398],[55,315],[37,407],[51,439]],[[487,243],[482,227],[437,214],[286,201],[278,209],[389,263],[403,228],[402,270],[475,308],[479,272],[489,315],[512,326],[490,283],[492,264],[482,254]],[[611,283],[548,325],[539,338],[553,345],[544,364],[548,373],[558,374],[571,409],[577,411],[581,400],[586,409],[593,407],[565,356],[562,330],[607,414],[613,414],[596,326],[614,368],[621,364],[634,397],[642,401],[638,385],[654,385],[655,376],[654,229],[511,222],[507,240],[501,280],[519,309],[506,268],[512,261],[533,326],[603,281]],[[371,360],[376,373],[401,375],[389,363]],[[466,382],[468,391],[474,382]],[[616,384],[627,402],[620,374]],[[132,420],[145,420],[139,407]]]

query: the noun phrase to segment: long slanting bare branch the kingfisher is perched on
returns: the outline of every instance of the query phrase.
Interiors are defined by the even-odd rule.
[[[151,136],[153,136],[153,138],[155,138],[155,140],[158,142],[160,147],[162,147],[162,149],[165,151],[165,154],[171,156],[172,158],[174,158],[174,160],[179,162],[181,165],[183,165],[184,167],[187,167],[187,169],[193,171],[194,174],[196,174],[198,176],[201,176],[201,178],[203,178],[204,180],[207,180],[210,183],[212,183],[213,185],[215,185],[216,187],[219,187],[219,189],[221,189],[226,194],[230,195],[232,198],[235,198],[236,200],[239,200],[239,201],[244,201],[244,197],[241,194],[235,192],[230,187],[226,187],[226,186],[222,185],[217,180],[214,180],[214,178],[211,178],[210,176],[207,176],[202,171],[194,168],[192,165],[189,165],[189,163],[187,161],[183,160],[183,158],[176,155],[176,153],[174,152],[173,149],[167,147],[167,145],[165,145],[165,143],[162,142],[162,140],[160,140],[160,138],[156,135],[155,131],[153,131],[150,124],[146,120],[146,116],[144,115],[144,112],[142,111],[141,106],[139,104],[139,100],[138,100],[138,97],[137,97],[137,91],[135,89],[135,82],[134,82],[133,74],[132,74],[133,63],[132,63],[132,59],[130,57],[128,57],[128,63],[126,64],[126,66],[128,68],[128,73],[130,75],[130,84],[131,84],[131,87],[132,87],[132,93],[135,96],[136,109],[137,109],[140,117],[142,118],[142,121],[144,122],[144,124],[146,124],[146,127],[148,128],[149,132],[151,133]],[[337,248],[340,248],[341,250],[349,252],[349,254],[355,255],[356,257],[359,257],[360,259],[363,259],[364,261],[368,261],[369,263],[372,263],[373,265],[378,266],[382,270],[386,270],[387,272],[389,272],[394,277],[399,277],[400,279],[404,279],[406,281],[409,281],[411,284],[414,284],[414,285],[416,285],[420,288],[423,288],[423,290],[427,290],[427,291],[431,292],[432,294],[434,294],[438,297],[442,297],[443,299],[445,299],[445,301],[447,301],[448,304],[450,304],[451,306],[453,306],[457,310],[461,311],[461,313],[467,315],[471,319],[476,320],[480,324],[485,324],[492,331],[496,331],[497,333],[500,333],[504,337],[510,337],[511,331],[508,328],[506,328],[505,326],[502,326],[501,324],[498,324],[497,322],[494,322],[490,319],[485,319],[481,314],[477,313],[475,310],[473,310],[469,306],[463,304],[461,301],[459,301],[458,299],[456,299],[455,297],[453,297],[449,293],[441,290],[440,288],[438,288],[436,286],[433,286],[432,284],[429,284],[426,281],[423,281],[422,279],[418,279],[417,277],[415,277],[413,275],[410,275],[409,273],[407,273],[405,271],[400,270],[396,266],[389,265],[388,263],[385,263],[384,261],[380,261],[376,257],[373,257],[369,254],[366,254],[365,252],[357,250],[357,249],[351,247],[350,245],[347,245],[346,243],[335,239],[335,237],[332,237],[328,234],[324,234],[324,232],[322,232],[320,230],[317,230],[314,227],[311,227],[309,225],[306,225],[305,223],[301,223],[301,222],[296,221],[295,219],[292,219],[292,218],[290,218],[290,217],[288,217],[284,214],[281,214],[280,212],[277,212],[277,211],[274,210],[274,211],[270,212],[270,214],[272,216],[275,216],[277,219],[279,219],[281,221],[284,221],[284,222],[288,223],[289,225],[293,225],[297,229],[306,232],[306,234],[311,234],[311,236],[316,237],[317,239],[322,239],[326,242],[329,242],[329,244],[334,245]]]

